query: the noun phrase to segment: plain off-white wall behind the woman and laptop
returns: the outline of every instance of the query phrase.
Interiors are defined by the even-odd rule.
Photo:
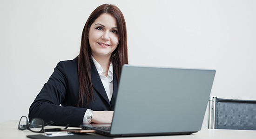
[[[129,64],[216,69],[211,95],[256,100],[256,0],[0,0],[0,122],[28,115],[104,3],[124,14]]]

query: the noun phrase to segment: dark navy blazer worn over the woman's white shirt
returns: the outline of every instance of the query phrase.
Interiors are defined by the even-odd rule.
[[[79,96],[77,58],[59,62],[52,76],[31,104],[29,119],[40,117],[44,123],[53,121],[53,125],[56,126],[66,126],[67,124],[79,126],[83,123],[84,114],[88,108],[95,111],[114,110],[118,86],[115,73],[113,75],[113,95],[109,102],[98,71],[92,63],[91,78],[94,100],[90,101],[87,106],[77,107]]]

